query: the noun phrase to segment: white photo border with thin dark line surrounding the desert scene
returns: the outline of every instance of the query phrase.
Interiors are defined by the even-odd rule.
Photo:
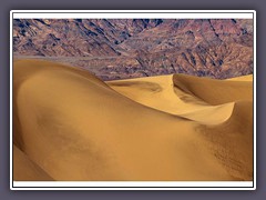
[[[13,181],[13,19],[253,19],[253,181]],[[11,10],[10,11],[11,190],[256,190],[256,11],[255,10]]]

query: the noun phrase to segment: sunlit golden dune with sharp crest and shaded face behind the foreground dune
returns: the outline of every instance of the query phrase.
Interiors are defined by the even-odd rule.
[[[205,124],[217,124],[226,121],[231,117],[235,101],[252,100],[253,97],[253,88],[249,82],[227,83],[226,81],[184,74],[110,81],[108,83],[114,90],[136,102]]]

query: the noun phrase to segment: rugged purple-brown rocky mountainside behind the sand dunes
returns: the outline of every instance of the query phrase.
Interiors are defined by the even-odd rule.
[[[253,73],[248,19],[14,19],[13,52],[85,68],[104,80]]]

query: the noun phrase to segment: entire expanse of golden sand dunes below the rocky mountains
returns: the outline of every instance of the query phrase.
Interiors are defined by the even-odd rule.
[[[252,180],[252,81],[13,64],[14,180]],[[212,94],[213,93],[213,94]]]

